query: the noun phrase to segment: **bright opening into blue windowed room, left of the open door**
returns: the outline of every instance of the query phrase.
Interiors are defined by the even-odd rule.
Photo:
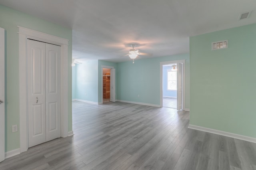
[[[163,65],[163,107],[177,109],[177,63]]]

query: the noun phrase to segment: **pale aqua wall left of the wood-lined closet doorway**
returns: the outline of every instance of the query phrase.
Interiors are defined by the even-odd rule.
[[[98,103],[98,60],[76,64],[76,99]]]

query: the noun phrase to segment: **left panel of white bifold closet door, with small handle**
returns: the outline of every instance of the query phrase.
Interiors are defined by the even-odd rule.
[[[45,43],[27,41],[28,147],[46,142]]]

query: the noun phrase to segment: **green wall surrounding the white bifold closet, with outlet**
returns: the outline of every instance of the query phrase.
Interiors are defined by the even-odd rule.
[[[18,45],[18,28],[22,26],[46,34],[51,34],[69,41],[68,46],[68,130],[72,130],[72,107],[71,107],[71,61],[72,61],[72,30],[63,28],[56,24],[46,22],[33,16],[12,10],[0,5],[0,27],[6,32],[6,98],[5,98],[5,151],[20,148],[20,133],[12,133],[12,125],[20,125],[19,118],[19,45]]]

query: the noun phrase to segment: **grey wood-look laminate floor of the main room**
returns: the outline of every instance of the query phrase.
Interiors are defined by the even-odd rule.
[[[255,143],[188,123],[176,109],[74,101],[74,136],[29,148],[0,170],[256,170]]]

